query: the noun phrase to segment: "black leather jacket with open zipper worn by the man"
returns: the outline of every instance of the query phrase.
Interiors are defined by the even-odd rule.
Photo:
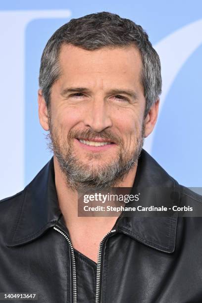
[[[143,150],[134,187],[159,185],[180,193],[176,203],[181,195],[187,204],[202,202]],[[51,158],[22,192],[0,202],[0,292],[77,302],[74,254],[59,217]],[[100,256],[95,302],[202,303],[201,217],[119,217]]]

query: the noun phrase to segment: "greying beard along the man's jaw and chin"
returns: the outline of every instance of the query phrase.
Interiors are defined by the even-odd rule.
[[[91,166],[94,158],[100,157],[100,154],[89,156],[89,160],[84,164],[74,154],[72,145],[64,152],[64,147],[68,146],[63,143],[62,147],[55,129],[50,125],[49,149],[54,153],[59,163],[60,169],[66,179],[66,186],[78,192],[109,190],[116,187],[117,182],[124,179],[127,173],[138,163],[138,158],[144,143],[144,126],[141,134],[137,138],[137,144],[133,152],[125,152],[120,146],[117,160],[111,163],[98,165],[96,168]],[[100,134],[98,134],[100,136]],[[104,136],[103,136],[104,137]],[[106,137],[105,137],[106,138]]]

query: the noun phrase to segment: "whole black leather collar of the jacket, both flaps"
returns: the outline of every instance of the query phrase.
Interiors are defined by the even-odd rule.
[[[145,150],[142,150],[133,188],[163,186],[179,192],[178,183]],[[176,195],[179,200],[179,196]],[[176,201],[178,203],[178,201]],[[62,217],[55,183],[53,157],[23,191],[20,212],[7,246],[26,244],[44,234]],[[63,219],[62,219],[63,221]],[[64,221],[63,221],[64,222]],[[119,217],[117,230],[166,253],[175,249],[177,213],[166,217]],[[66,229],[67,231],[67,229]],[[68,231],[67,231],[68,232]]]

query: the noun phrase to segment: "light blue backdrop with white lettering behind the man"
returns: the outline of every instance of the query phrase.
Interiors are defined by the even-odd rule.
[[[201,0],[0,1],[0,199],[21,191],[49,161],[38,119],[42,51],[71,18],[117,13],[149,34],[162,67],[159,116],[144,148],[180,184],[202,187]]]

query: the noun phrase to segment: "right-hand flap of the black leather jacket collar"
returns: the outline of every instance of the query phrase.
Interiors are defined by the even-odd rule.
[[[153,189],[153,193],[155,193],[155,190],[160,191],[160,198],[157,200],[161,200],[157,201],[158,206],[164,204],[163,201],[168,201],[170,195],[172,195],[172,205],[179,205],[180,188],[177,181],[170,177],[148,152],[142,150],[138,160],[132,193],[134,195],[142,193],[145,189]],[[148,203],[149,206],[155,204],[155,202],[156,198],[150,195],[150,191],[148,191],[148,196],[147,194],[144,196],[144,205]],[[173,253],[177,218],[177,212],[172,216],[122,217],[118,220],[117,228],[149,247],[161,252]]]

